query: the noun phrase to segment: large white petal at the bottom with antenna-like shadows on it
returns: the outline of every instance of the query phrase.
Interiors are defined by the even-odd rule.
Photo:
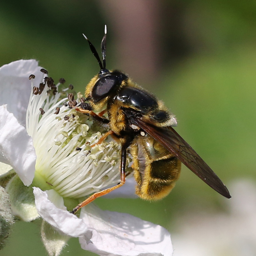
[[[80,218],[92,230],[92,238],[80,237],[84,250],[102,256],[172,255],[169,232],[159,225],[126,213],[102,211],[93,204],[82,208]]]

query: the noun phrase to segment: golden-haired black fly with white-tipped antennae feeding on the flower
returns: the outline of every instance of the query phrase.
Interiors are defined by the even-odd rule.
[[[105,26],[101,42],[102,62],[97,50],[84,35],[97,59],[100,72],[86,86],[88,103],[77,107],[76,111],[89,114],[108,125],[109,131],[96,144],[111,135],[122,145],[121,181],[116,186],[92,194],[72,213],[125,183],[127,150],[133,158],[136,193],[142,199],[157,200],[167,196],[180,175],[181,162],[215,191],[230,198],[228,189],[219,177],[172,128],[177,122],[164,103],[135,84],[127,74],[106,69],[106,34]],[[94,111],[101,112],[96,114]],[[108,118],[103,117],[104,113]]]

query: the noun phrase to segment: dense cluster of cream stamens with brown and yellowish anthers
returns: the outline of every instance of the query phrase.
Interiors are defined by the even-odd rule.
[[[62,98],[68,89],[59,92],[61,83],[44,75],[38,87],[32,85],[26,126],[36,150],[38,186],[79,198],[119,182],[120,146],[109,138],[90,147],[105,130],[75,111],[80,93],[77,100],[73,94]]]

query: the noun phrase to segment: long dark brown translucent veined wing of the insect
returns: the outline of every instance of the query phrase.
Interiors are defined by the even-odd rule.
[[[228,189],[220,178],[172,127],[157,127],[153,124],[145,123],[142,119],[135,117],[131,118],[131,121],[174,154],[207,185],[224,197],[231,197]]]

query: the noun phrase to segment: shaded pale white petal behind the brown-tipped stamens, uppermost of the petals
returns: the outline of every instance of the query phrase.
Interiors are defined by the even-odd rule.
[[[42,80],[41,67],[36,60],[17,60],[0,68],[0,105],[8,104],[7,110],[14,113],[18,122],[25,127],[26,111],[30,98],[31,80],[39,85]]]

